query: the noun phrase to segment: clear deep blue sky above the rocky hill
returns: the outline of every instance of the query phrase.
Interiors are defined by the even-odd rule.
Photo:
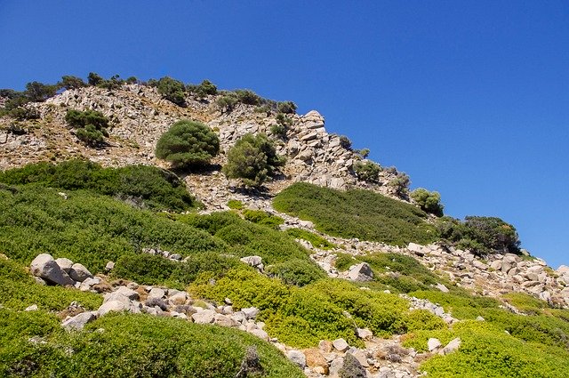
[[[566,1],[0,2],[0,87],[173,76],[317,109],[329,132],[569,265]]]

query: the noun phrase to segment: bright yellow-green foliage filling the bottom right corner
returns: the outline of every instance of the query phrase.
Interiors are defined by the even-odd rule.
[[[436,377],[565,377],[569,363],[567,349],[524,342],[506,334],[499,326],[473,320],[452,330],[421,331],[410,335],[406,347],[426,350],[429,337],[443,344],[461,338],[458,351],[428,359],[421,369]]]

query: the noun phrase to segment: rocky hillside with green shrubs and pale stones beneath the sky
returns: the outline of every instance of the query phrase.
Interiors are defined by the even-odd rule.
[[[317,111],[208,83],[0,92],[0,375],[566,375],[569,268],[440,216]],[[207,165],[156,158],[180,119],[218,135]],[[286,157],[253,188],[222,170],[247,133]]]

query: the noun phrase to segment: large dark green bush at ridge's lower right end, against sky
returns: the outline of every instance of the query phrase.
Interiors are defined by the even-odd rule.
[[[520,253],[516,229],[500,218],[467,216],[462,222],[443,217],[437,222],[437,229],[447,243],[477,255]]]

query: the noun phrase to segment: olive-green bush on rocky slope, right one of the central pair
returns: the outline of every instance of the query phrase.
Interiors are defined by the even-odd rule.
[[[241,179],[246,186],[259,187],[282,165],[284,157],[276,155],[266,134],[247,133],[229,149],[223,173],[230,179]]]

